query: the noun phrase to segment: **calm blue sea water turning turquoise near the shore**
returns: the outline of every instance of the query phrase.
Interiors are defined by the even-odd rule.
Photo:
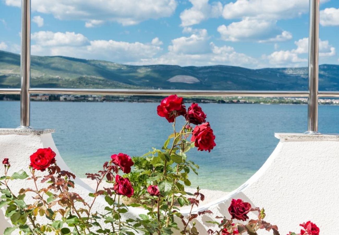
[[[79,177],[99,169],[113,153],[142,155],[160,148],[172,127],[156,113],[157,103],[32,102],[31,125],[55,128],[54,141]],[[193,186],[231,191],[270,156],[274,132],[304,132],[306,105],[201,104],[216,135],[210,152],[188,158],[200,165]],[[319,131],[339,132],[339,106],[319,107]],[[19,102],[0,101],[0,128],[19,125]],[[183,118],[181,119],[183,122]],[[10,156],[6,156],[10,157]]]

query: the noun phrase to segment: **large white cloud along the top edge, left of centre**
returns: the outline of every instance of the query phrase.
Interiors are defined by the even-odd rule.
[[[21,6],[21,0],[5,0],[9,6]],[[52,14],[61,20],[115,21],[123,25],[171,16],[176,0],[32,0],[32,11]]]

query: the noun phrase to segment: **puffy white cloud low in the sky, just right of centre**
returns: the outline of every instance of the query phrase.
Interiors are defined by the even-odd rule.
[[[172,40],[172,45],[168,46],[168,51],[176,54],[201,54],[211,51],[208,42],[207,30],[195,31],[190,37],[180,37]]]

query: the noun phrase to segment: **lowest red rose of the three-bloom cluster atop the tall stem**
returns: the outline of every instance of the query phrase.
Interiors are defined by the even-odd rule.
[[[194,128],[191,141],[195,142],[194,146],[198,147],[198,150],[211,152],[211,149],[216,146],[214,139],[215,135],[210,123],[206,122]]]

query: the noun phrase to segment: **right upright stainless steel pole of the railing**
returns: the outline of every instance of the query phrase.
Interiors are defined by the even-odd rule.
[[[310,0],[310,36],[308,38],[308,130],[318,132],[318,81],[319,81],[319,0]]]

